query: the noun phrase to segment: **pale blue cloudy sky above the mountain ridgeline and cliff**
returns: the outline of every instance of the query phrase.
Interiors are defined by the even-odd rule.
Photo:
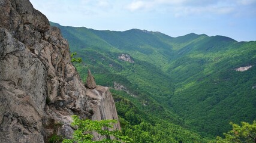
[[[188,33],[256,41],[256,0],[31,0],[62,26],[125,31],[146,29],[172,37]]]

